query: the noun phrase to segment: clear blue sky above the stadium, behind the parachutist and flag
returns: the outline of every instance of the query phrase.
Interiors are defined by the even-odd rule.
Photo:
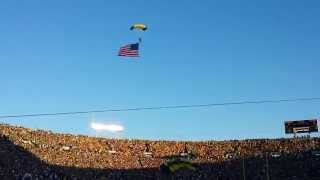
[[[319,97],[320,2],[0,2],[0,114]],[[145,33],[131,24],[149,26]],[[143,37],[141,58],[117,56]],[[92,135],[92,117],[121,137],[283,137],[283,121],[319,117],[320,102],[1,119]]]

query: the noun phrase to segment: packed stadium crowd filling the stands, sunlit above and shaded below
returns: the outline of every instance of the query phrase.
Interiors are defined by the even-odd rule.
[[[146,141],[0,125],[0,179],[320,179],[320,139]],[[164,174],[174,155],[196,172]]]

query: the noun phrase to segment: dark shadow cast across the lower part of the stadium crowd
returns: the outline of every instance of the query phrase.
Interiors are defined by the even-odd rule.
[[[81,157],[79,157],[81,158]],[[94,169],[51,165],[0,135],[0,179],[217,179],[270,180],[320,178],[320,156],[311,151],[230,157],[223,162],[195,163],[196,171],[165,174],[159,168]]]

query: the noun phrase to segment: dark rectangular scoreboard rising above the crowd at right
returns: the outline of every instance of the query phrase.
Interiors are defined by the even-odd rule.
[[[318,132],[317,119],[286,121],[284,125],[286,134]]]

